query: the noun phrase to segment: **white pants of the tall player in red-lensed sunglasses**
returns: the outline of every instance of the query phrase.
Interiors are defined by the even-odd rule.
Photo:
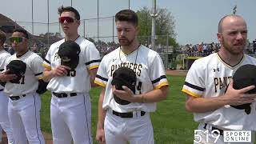
[[[54,144],[92,144],[89,94],[57,98],[52,94],[50,121]]]

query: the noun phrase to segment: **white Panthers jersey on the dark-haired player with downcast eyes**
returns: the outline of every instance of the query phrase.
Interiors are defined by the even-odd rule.
[[[111,85],[112,75],[121,66],[129,67],[136,73],[136,94],[145,94],[151,90],[168,85],[162,59],[157,52],[141,45],[137,50],[127,55],[119,47],[102,58],[95,78],[95,83],[106,87],[103,109],[110,108],[121,113],[135,110],[146,112],[156,110],[155,102],[131,102],[128,105],[120,105],[114,101]]]

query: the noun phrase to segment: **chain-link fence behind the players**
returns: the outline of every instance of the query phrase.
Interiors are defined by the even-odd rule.
[[[42,22],[14,22],[10,19],[2,20],[0,18],[0,29],[5,31],[8,37],[10,37],[12,30],[18,27],[24,28],[30,33],[30,49],[41,54],[42,57],[46,55],[51,44],[58,42],[64,37],[58,22],[49,23],[48,25]],[[101,56],[110,53],[110,51],[118,47],[118,38],[115,36],[114,17],[83,19],[80,22],[78,34],[94,42]],[[174,67],[175,58],[172,54],[173,47],[169,45],[168,39],[166,35],[156,36],[155,51],[160,54],[164,66],[171,68]],[[138,36],[138,40],[142,45],[151,48],[151,36]],[[10,42],[7,41],[5,46],[10,49]]]

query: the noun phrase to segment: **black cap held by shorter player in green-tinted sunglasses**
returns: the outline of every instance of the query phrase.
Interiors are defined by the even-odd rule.
[[[26,63],[20,60],[13,60],[6,66],[6,69],[9,71],[8,74],[15,74],[17,76],[17,78],[10,80],[10,82],[18,83],[26,72]]]

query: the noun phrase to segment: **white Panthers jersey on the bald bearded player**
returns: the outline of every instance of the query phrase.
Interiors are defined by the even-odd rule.
[[[218,53],[200,58],[190,67],[182,91],[193,97],[218,97],[224,94],[238,67],[245,64],[256,65],[256,59],[244,54],[236,66],[230,66],[218,56]],[[194,121],[227,130],[256,130],[255,103],[250,106],[250,114],[228,105],[206,113],[194,113]]]

